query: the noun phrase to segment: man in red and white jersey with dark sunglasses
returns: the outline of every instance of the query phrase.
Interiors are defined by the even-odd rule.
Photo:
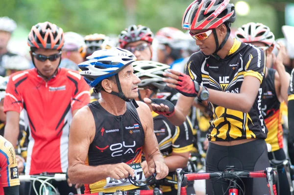
[[[65,173],[70,122],[76,111],[90,102],[89,87],[77,71],[58,68],[64,44],[62,28],[38,23],[32,26],[27,43],[35,68],[9,77],[4,137],[17,144],[20,112],[24,110],[29,139],[25,174]],[[53,182],[53,186],[60,194],[74,192],[66,181]],[[26,193],[34,195],[30,183]]]

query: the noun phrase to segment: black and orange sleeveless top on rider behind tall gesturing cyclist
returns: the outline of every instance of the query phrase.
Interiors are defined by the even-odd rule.
[[[268,69],[267,77],[265,77],[266,86],[262,102],[263,116],[269,130],[266,142],[271,145],[272,152],[283,148],[282,113],[280,112],[281,103],[274,87],[275,72],[276,70],[274,69]]]

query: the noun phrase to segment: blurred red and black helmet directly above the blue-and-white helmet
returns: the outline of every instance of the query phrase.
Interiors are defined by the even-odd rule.
[[[146,41],[149,44],[152,44],[153,33],[150,28],[143,25],[130,25],[119,35],[119,44],[121,48],[124,48],[128,43],[136,41]]]

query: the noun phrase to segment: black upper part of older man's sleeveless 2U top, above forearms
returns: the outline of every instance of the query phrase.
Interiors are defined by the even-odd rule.
[[[110,114],[98,101],[88,106],[96,125],[88,151],[89,165],[131,164],[135,156],[133,163],[140,163],[145,133],[133,103],[126,102],[126,112],[121,116]]]

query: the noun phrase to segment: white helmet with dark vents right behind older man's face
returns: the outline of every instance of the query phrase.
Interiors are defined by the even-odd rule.
[[[166,64],[162,64],[154,61],[136,61],[133,64],[134,72],[139,78],[147,76],[141,80],[141,83],[138,84],[139,87],[145,87],[148,85],[153,85],[154,87],[163,90],[166,86],[166,83],[162,81],[164,78],[164,73],[167,69],[171,68]]]

